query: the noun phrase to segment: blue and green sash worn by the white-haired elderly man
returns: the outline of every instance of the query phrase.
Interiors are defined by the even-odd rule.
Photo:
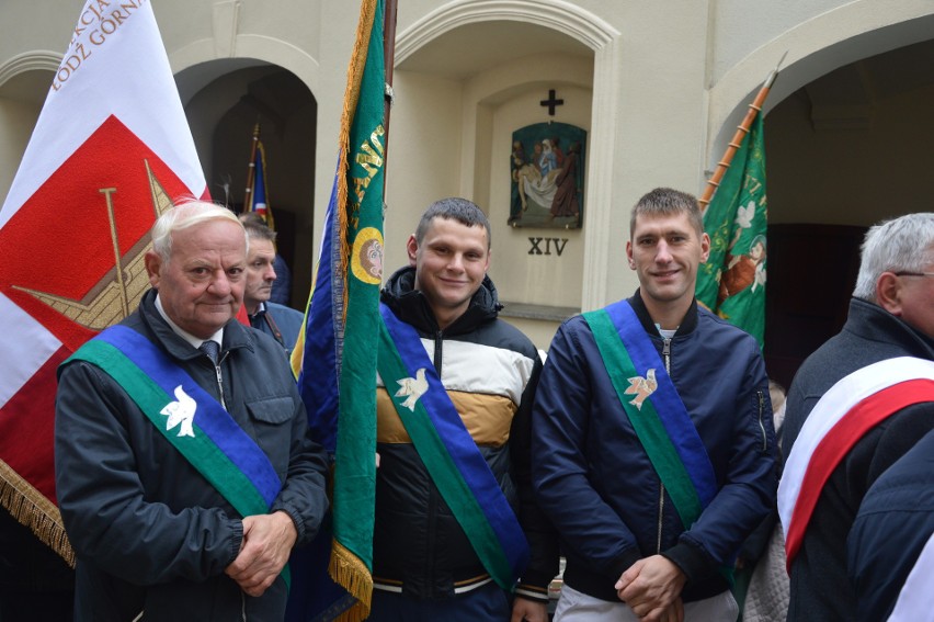
[[[234,506],[240,516],[267,513],[282,482],[262,449],[227,410],[148,339],[125,326],[112,326],[86,342],[66,363],[82,360],[117,382],[162,436]],[[168,428],[162,410],[176,389],[196,408],[193,437]],[[288,566],[283,568],[288,584]]]

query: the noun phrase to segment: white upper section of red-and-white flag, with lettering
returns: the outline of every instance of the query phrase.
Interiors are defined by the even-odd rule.
[[[86,4],[81,15],[89,13]],[[136,4],[136,9],[127,9]],[[121,12],[119,19],[114,12]],[[125,41],[121,41],[125,39]],[[172,79],[152,7],[147,0],[113,3],[101,19],[87,25],[66,52],[75,69],[59,70],[36,122],[3,210],[0,227],[33,193],[114,114],[174,171],[191,193],[205,189],[187,120]],[[61,81],[61,78],[65,78]],[[119,98],[107,97],[119,91]],[[153,97],[162,93],[164,97]],[[80,110],[75,103],[80,101]],[[67,123],[62,123],[67,120]]]

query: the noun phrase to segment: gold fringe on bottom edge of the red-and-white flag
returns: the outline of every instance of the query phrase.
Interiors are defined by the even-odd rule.
[[[61,513],[32,484],[0,460],[0,506],[30,528],[36,538],[75,567],[75,551],[65,533]]]

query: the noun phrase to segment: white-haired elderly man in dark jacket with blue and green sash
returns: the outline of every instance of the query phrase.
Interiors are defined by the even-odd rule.
[[[76,620],[282,620],[327,510],[282,348],[236,321],[247,238],[193,202],[152,228],[152,290],[59,370],[56,486]]]

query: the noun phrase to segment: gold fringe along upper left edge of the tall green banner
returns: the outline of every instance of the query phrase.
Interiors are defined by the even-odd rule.
[[[348,152],[350,151],[350,128],[356,105],[360,102],[360,89],[363,82],[363,69],[366,66],[366,56],[369,50],[369,33],[373,31],[373,21],[376,16],[377,0],[364,0],[360,7],[360,21],[356,25],[356,41],[353,44],[350,66],[348,67],[348,86],[344,91],[344,110],[341,114],[341,132],[338,137],[340,144],[340,156],[338,161],[338,205],[337,214],[338,230],[341,231],[339,244],[341,245],[341,271],[344,275],[343,287],[343,323],[346,321],[348,313],[348,263],[350,262],[350,244],[346,239],[348,231]]]

